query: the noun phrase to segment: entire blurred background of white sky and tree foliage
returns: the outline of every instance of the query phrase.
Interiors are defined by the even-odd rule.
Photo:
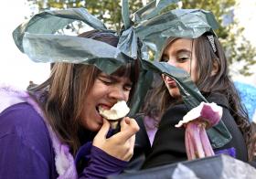
[[[130,0],[131,13],[150,1]],[[1,2],[1,5],[0,83],[22,89],[27,88],[29,81],[41,83],[49,75],[48,64],[30,61],[17,49],[12,39],[12,31],[16,26],[31,16],[48,9],[86,7],[112,29],[119,30],[122,26],[121,0],[10,0]],[[229,58],[229,75],[234,81],[256,87],[255,0],[183,0],[167,9],[174,8],[203,8],[212,11],[219,21],[217,35]],[[73,24],[67,29],[77,34],[81,27],[80,24]],[[251,90],[245,92],[248,96]]]

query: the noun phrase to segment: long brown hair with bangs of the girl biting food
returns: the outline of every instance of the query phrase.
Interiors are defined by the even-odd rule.
[[[97,30],[82,33],[79,37],[99,40],[113,47],[117,47],[119,40],[110,32]],[[84,109],[84,99],[100,73],[101,70],[93,65],[55,63],[51,66],[50,77],[36,88],[29,89],[61,142],[69,144],[72,153],[76,153],[80,147],[80,116]],[[129,104],[139,76],[137,60],[118,68],[112,75],[129,77],[133,82]]]

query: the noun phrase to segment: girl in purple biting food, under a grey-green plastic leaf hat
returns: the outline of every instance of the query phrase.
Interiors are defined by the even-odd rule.
[[[114,134],[99,107],[110,109],[119,100],[129,103],[137,82],[137,62],[118,56],[122,54],[116,48],[119,38],[107,29],[80,37],[48,34],[47,27],[38,33],[40,20],[56,22],[60,17],[58,25],[63,26],[70,16],[89,16],[80,9],[48,13],[43,13],[46,18],[34,16],[33,23],[14,33],[16,45],[30,58],[55,64],[49,79],[34,89],[0,89],[0,175],[70,179],[120,174],[133,156],[139,126],[124,117],[120,132]],[[107,68],[111,62],[117,65],[101,70],[101,65]]]

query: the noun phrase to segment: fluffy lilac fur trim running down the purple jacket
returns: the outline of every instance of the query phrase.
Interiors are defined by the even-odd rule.
[[[37,105],[37,102],[35,100],[32,100],[29,97],[29,94],[25,90],[18,90],[13,87],[0,87],[0,97],[3,96],[5,98],[0,98],[0,110],[1,106],[3,108],[8,108],[9,106],[12,106],[19,102],[27,102],[30,104],[35,111],[42,117],[42,119],[45,121],[49,136],[52,141],[52,145],[55,152],[55,165],[57,172],[59,174],[59,179],[77,179],[77,171],[74,163],[73,156],[69,153],[69,146],[67,146],[64,143],[61,143],[59,141],[58,136],[55,132],[53,132],[51,126],[49,125],[48,121],[46,120],[43,111],[39,108]],[[3,100],[4,99],[4,100]],[[6,102],[8,102],[7,106]],[[2,109],[3,110],[3,109]],[[1,111],[0,111],[1,112]]]

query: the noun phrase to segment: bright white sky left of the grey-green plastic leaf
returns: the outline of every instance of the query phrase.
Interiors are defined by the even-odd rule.
[[[49,65],[32,62],[18,50],[12,37],[12,31],[24,22],[25,16],[29,15],[25,0],[12,0],[11,5],[10,1],[3,1],[1,5],[3,6],[0,11],[0,83],[25,89],[29,80],[43,82],[48,77]]]

